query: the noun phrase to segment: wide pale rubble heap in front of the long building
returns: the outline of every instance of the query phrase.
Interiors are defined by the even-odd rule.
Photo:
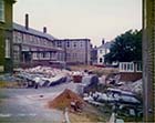
[[[16,74],[17,78],[22,79],[27,86],[52,86],[63,82],[70,81],[71,72],[68,70],[60,70],[50,66],[35,66],[30,69],[20,69]]]

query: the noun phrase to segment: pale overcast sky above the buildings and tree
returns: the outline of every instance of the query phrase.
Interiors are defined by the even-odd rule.
[[[87,38],[93,45],[142,28],[142,0],[17,0],[13,21],[58,39]]]

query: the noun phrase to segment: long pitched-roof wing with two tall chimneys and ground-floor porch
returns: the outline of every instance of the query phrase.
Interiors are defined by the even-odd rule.
[[[53,47],[54,37],[29,27],[29,16],[25,14],[25,25],[13,23],[13,64],[19,66],[51,65],[63,62],[63,50]]]

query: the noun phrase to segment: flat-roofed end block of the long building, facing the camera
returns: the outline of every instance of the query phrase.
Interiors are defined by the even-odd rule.
[[[91,43],[90,39],[64,39],[54,40],[55,48],[62,48],[66,64],[90,64]]]

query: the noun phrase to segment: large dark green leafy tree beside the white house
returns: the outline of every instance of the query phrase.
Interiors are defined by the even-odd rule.
[[[104,57],[108,63],[142,61],[142,30],[130,30],[116,37],[110,53]]]

